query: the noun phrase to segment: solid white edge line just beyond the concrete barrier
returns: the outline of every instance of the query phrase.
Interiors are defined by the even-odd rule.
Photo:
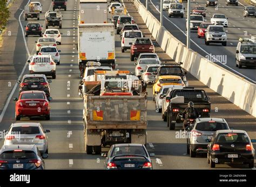
[[[154,6],[154,8],[156,8],[156,5],[153,4],[152,0],[150,0],[150,2],[151,2],[151,4]],[[156,10],[160,13],[160,11],[159,11],[157,8],[156,8]],[[180,32],[183,33],[183,34],[186,36],[186,33],[183,32],[183,30],[181,30],[181,29],[180,29],[176,24],[174,24],[170,19],[168,19],[166,16],[164,16],[164,18],[165,18],[167,21],[169,21],[170,23],[172,23],[175,27],[177,27],[178,30],[180,30]],[[212,56],[210,53],[208,53],[207,51],[205,51],[205,49],[201,48],[194,40],[192,40],[192,39],[190,39],[190,40],[193,42],[194,45],[196,45],[199,49],[201,49],[201,51],[203,51],[203,52],[205,52],[207,55],[211,56],[211,57],[215,60],[215,62],[221,63],[218,59],[216,59],[216,58],[215,58],[214,56]],[[233,68],[227,66],[226,64],[223,64],[223,63],[221,63],[221,64],[222,64],[223,66],[227,67],[228,69],[233,70],[235,73],[241,75],[242,77],[247,78],[248,80],[252,81],[253,83],[256,83],[256,81],[253,81],[251,78],[245,76],[244,74],[240,73],[239,71],[234,70]]]

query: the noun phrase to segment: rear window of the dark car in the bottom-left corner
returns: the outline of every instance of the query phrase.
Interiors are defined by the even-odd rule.
[[[29,150],[19,150],[19,151],[8,151],[3,152],[0,155],[0,158],[3,160],[17,160],[17,159],[36,159],[36,154]]]

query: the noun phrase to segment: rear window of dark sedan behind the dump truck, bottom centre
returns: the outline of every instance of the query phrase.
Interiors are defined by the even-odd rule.
[[[147,156],[143,147],[116,147],[113,150],[112,156],[118,155],[142,155]]]

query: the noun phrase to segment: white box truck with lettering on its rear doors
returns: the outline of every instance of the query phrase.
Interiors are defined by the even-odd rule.
[[[77,50],[82,74],[89,61],[100,62],[102,66],[111,66],[114,69],[114,24],[78,24]]]

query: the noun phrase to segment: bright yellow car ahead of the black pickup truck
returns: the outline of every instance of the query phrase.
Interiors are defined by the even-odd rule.
[[[159,76],[153,85],[153,100],[156,97],[157,93],[163,87],[163,85],[181,85],[185,87],[185,83],[180,76],[175,75],[163,75]]]

